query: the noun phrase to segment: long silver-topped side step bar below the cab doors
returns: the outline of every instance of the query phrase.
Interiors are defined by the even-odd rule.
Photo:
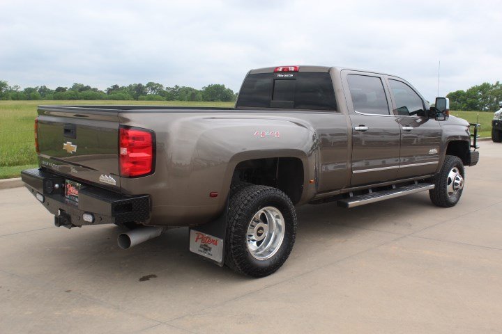
[[[399,188],[391,190],[377,191],[374,193],[367,193],[365,195],[352,196],[351,198],[344,198],[342,200],[337,200],[337,204],[339,207],[358,207],[359,205],[380,202],[381,200],[388,200],[389,198],[405,196],[411,193],[419,193],[420,191],[426,191],[429,189],[434,189],[434,184],[417,183],[411,184],[410,186],[400,186]]]

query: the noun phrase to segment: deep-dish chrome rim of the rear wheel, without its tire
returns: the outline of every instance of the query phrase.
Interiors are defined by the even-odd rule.
[[[252,257],[267,260],[279,250],[284,239],[284,217],[275,207],[264,207],[251,218],[246,244]]]

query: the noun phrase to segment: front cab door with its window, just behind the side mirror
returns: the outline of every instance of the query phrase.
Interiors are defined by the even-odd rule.
[[[406,81],[386,77],[393,102],[393,113],[401,128],[398,178],[436,173],[441,150],[441,126],[427,117],[421,97]]]

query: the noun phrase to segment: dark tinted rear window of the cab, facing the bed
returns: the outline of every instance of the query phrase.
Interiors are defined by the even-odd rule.
[[[250,74],[237,106],[337,110],[329,73],[294,72],[285,79],[274,73]]]

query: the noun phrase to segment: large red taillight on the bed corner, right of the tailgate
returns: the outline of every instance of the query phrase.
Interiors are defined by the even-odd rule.
[[[119,140],[120,173],[138,177],[153,172],[153,132],[121,127]]]

